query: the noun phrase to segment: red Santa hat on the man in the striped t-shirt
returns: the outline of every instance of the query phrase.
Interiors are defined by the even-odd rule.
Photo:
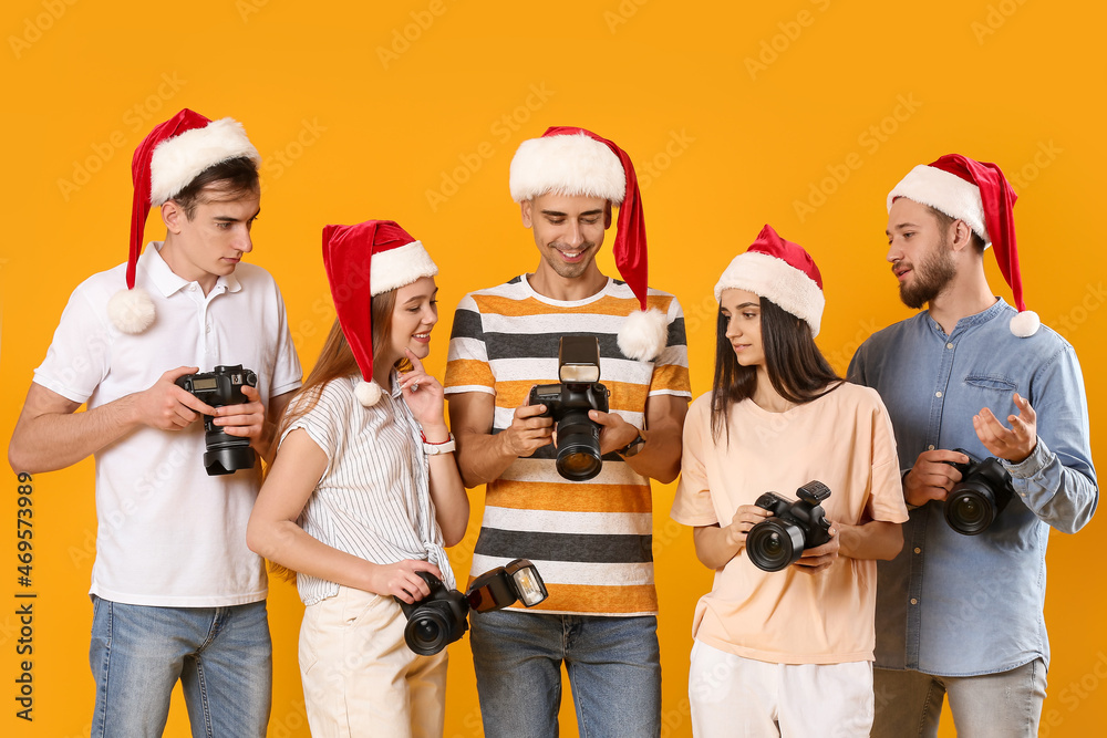
[[[612,253],[641,308],[619,330],[619,350],[638,361],[656,357],[668,342],[669,324],[660,310],[646,306],[645,217],[638,175],[627,153],[591,131],[555,126],[541,138],[519,145],[509,184],[516,202],[558,193],[602,197],[619,207]]]

